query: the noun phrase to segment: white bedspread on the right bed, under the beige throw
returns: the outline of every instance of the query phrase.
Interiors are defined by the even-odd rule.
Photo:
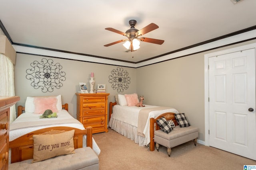
[[[145,107],[137,107],[137,106],[115,105],[113,107],[113,113],[111,115],[111,119],[115,119],[138,128],[138,115],[139,115],[140,109],[153,108],[153,107],[159,107],[159,106],[145,105]],[[144,139],[143,145],[140,144],[140,146],[145,146],[150,143],[150,118],[151,117],[156,118],[158,115],[166,112],[179,113],[178,110],[174,108],[150,111],[150,113],[148,114],[146,126],[143,131],[143,133],[145,134],[145,139]],[[112,121],[111,119],[110,121]]]

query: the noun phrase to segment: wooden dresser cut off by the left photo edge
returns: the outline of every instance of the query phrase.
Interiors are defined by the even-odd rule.
[[[0,170],[8,170],[10,107],[18,96],[0,96]]]

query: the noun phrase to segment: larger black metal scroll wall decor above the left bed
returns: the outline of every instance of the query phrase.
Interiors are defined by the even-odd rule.
[[[32,68],[26,70],[26,78],[31,80],[31,86],[35,89],[41,88],[42,92],[53,92],[63,86],[66,73],[63,72],[60,63],[53,63],[52,59],[42,59],[30,64]]]

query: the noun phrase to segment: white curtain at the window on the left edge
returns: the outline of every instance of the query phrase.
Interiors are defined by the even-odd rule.
[[[14,67],[11,60],[0,53],[0,96],[15,96]],[[10,123],[16,119],[16,106],[10,107]]]

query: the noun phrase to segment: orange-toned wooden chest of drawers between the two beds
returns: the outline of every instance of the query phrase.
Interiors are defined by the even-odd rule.
[[[92,127],[92,133],[108,132],[108,95],[109,93],[76,93],[76,119],[86,128]]]

